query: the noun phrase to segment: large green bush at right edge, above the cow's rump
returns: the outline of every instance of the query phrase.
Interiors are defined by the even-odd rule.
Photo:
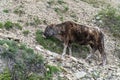
[[[114,37],[120,38],[120,14],[111,6],[100,11],[96,16],[96,24],[109,28]]]

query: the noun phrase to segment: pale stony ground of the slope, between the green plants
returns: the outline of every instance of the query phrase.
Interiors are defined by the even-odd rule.
[[[33,48],[36,52],[41,53],[46,62],[51,65],[59,66],[63,71],[54,76],[54,80],[57,76],[65,78],[65,80],[120,80],[120,60],[114,56],[116,44],[118,42],[111,36],[108,31],[102,29],[105,33],[105,50],[107,52],[108,64],[105,66],[98,66],[95,64],[95,60],[91,64],[88,64],[84,59],[66,56],[65,60],[59,60],[60,55],[49,50],[44,49],[37,44],[35,40],[35,32],[38,29],[44,30],[47,24],[60,23],[60,15],[54,11],[54,8],[63,7],[60,4],[48,4],[50,0],[0,0],[0,21],[4,22],[10,20],[12,22],[19,22],[22,26],[22,30],[0,30],[0,39],[18,39],[20,42],[25,43],[27,46]],[[55,0],[57,1],[57,0]],[[118,2],[116,2],[118,1]],[[89,26],[96,26],[92,21],[93,16],[97,14],[101,8],[95,8],[92,5],[79,1],[79,0],[65,0],[69,10],[63,14],[64,20],[77,20],[77,23],[85,24]],[[112,0],[109,3],[116,7],[119,0]],[[22,10],[24,13],[21,15],[15,14],[14,10]],[[8,13],[3,10],[9,10]],[[70,15],[74,15],[71,17]],[[41,21],[45,21],[37,26],[25,25],[27,22],[31,22],[34,17],[38,17]],[[24,36],[22,33],[24,30],[29,30],[28,36]],[[4,67],[3,62],[0,60],[0,71]]]

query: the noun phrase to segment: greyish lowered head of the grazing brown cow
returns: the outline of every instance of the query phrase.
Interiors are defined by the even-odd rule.
[[[44,36],[47,37],[51,37],[57,34],[57,30],[55,28],[55,25],[48,25],[44,31]]]

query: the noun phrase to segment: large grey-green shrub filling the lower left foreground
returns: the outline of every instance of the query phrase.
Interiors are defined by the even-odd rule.
[[[53,73],[59,71],[56,66],[45,65],[33,49],[14,41],[0,40],[0,56],[7,65],[0,80],[52,80]]]

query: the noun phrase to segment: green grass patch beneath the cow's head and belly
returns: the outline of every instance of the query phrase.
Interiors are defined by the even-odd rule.
[[[49,38],[45,39],[42,37],[43,32],[40,30],[37,30],[36,32],[36,41],[42,45],[45,49],[48,49],[50,51],[56,52],[56,53],[62,53],[63,51],[63,45],[62,42],[55,38]],[[89,48],[86,46],[77,45],[75,43],[72,44],[72,52],[73,56],[75,57],[82,57],[85,58],[86,55],[89,53]],[[68,53],[68,51],[67,51]]]

